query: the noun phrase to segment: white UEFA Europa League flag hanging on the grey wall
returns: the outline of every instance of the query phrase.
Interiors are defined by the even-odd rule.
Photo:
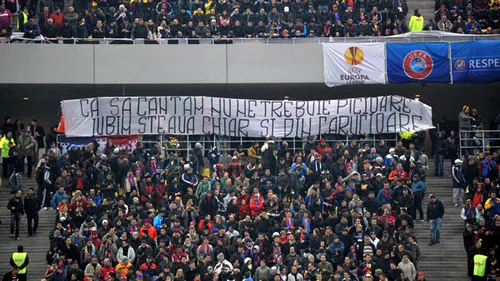
[[[384,48],[384,43],[323,44],[326,85],[385,84]]]

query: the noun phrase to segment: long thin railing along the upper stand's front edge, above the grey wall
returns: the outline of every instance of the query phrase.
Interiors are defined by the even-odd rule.
[[[441,31],[410,32],[393,36],[366,37],[301,37],[301,38],[23,38],[22,32],[15,32],[0,43],[39,43],[39,44],[152,44],[152,45],[198,45],[198,44],[321,44],[321,43],[397,43],[397,42],[460,42],[475,40],[500,40],[500,34],[456,34]]]

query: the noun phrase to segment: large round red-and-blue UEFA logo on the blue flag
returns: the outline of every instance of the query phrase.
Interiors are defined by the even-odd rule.
[[[403,59],[406,76],[412,79],[425,79],[434,67],[431,56],[424,51],[412,51]]]

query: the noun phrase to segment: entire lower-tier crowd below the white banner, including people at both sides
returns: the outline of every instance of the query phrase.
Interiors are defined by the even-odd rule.
[[[435,150],[453,153],[443,124]],[[31,125],[17,142],[19,126],[10,118],[3,126],[8,172],[23,173],[16,163],[37,142],[28,132],[43,131]],[[310,138],[300,151],[267,139],[236,149],[230,163],[217,147],[204,153],[196,143],[187,156],[169,144],[128,151],[93,142],[62,155],[49,142],[36,192],[23,194],[11,178],[13,238],[24,213],[31,236],[39,210],[57,212],[46,280],[425,280],[413,228],[429,221],[430,245],[439,244],[445,210],[426,191],[422,133],[394,146]],[[498,157],[470,155],[452,172],[454,202],[463,194],[455,189],[470,199],[462,210],[469,273],[471,256],[484,253],[489,277],[499,254]]]

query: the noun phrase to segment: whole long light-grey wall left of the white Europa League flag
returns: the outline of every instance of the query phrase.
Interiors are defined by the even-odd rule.
[[[321,83],[320,44],[2,44],[0,84]],[[290,70],[296,70],[294,73]],[[292,74],[292,75],[290,75]]]

